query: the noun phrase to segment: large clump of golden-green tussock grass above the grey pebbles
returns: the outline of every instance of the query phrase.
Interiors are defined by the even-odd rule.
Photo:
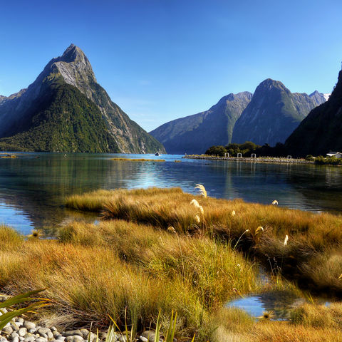
[[[0,251],[1,286],[12,293],[45,288],[64,326],[110,323],[162,330],[177,311],[177,335],[207,341],[210,315],[235,295],[258,291],[258,267],[227,244],[120,220],[61,230],[58,240],[27,239]],[[6,258],[4,258],[6,256]],[[56,316],[56,313],[53,314]],[[49,314],[46,314],[48,317]],[[46,318],[47,319],[47,318]]]

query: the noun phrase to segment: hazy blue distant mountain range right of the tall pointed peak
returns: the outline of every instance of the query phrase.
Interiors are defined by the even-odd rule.
[[[212,145],[252,141],[284,142],[311,109],[330,94],[291,93],[283,83],[266,79],[254,94],[229,94],[209,110],[172,120],[150,132],[169,153],[204,153]]]

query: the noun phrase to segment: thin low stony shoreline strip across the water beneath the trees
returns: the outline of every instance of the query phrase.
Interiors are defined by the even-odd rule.
[[[315,164],[314,161],[305,159],[290,159],[286,157],[218,157],[216,155],[185,155],[185,159],[200,159],[200,160],[228,160],[234,162],[264,162],[274,164]]]

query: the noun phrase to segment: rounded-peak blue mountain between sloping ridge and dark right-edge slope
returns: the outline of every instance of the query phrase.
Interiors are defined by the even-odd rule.
[[[252,100],[234,126],[232,142],[252,141],[257,145],[275,145],[286,138],[317,105],[325,102],[315,91],[291,93],[283,83],[270,78],[261,82]]]

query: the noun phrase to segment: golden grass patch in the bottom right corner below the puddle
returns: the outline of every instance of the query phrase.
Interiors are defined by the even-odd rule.
[[[337,342],[342,341],[342,304],[305,304],[293,321],[254,321],[239,309],[220,309],[212,316],[210,341]]]

